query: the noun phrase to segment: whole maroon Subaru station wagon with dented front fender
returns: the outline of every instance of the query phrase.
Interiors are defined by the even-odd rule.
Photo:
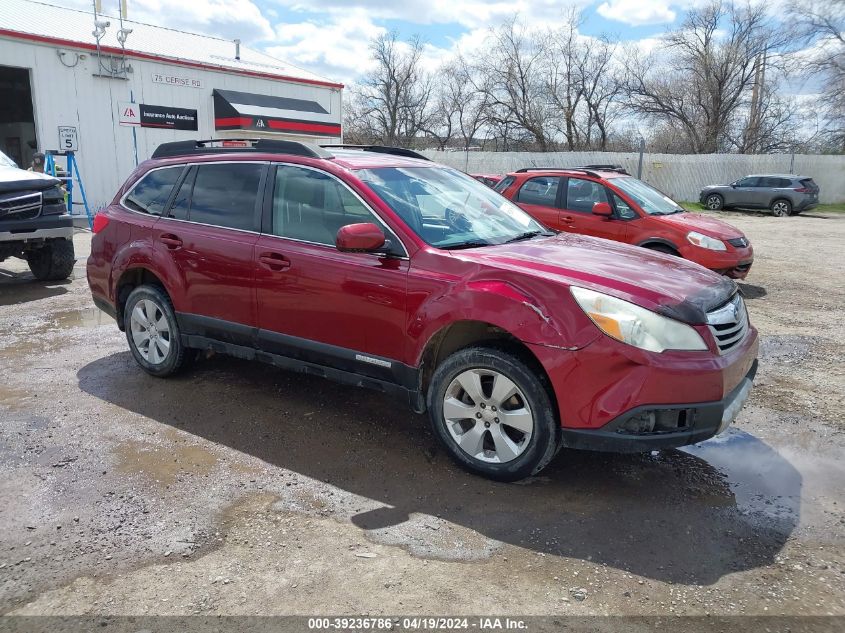
[[[394,394],[498,480],[712,437],[757,367],[730,279],[553,235],[408,150],[167,143],[94,231],[94,303],[146,372],[214,350]]]

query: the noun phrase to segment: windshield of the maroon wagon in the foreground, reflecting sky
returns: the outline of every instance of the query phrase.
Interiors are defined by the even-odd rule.
[[[454,169],[380,167],[357,173],[417,235],[438,248],[551,235],[515,204]]]

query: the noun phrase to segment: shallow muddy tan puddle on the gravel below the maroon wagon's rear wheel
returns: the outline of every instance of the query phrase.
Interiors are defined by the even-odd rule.
[[[126,441],[115,451],[117,470],[140,473],[161,486],[170,486],[180,474],[206,475],[217,466],[217,457],[196,445],[157,446]]]

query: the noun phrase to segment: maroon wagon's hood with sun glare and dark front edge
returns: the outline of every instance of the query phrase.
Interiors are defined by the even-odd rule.
[[[562,233],[459,253],[511,272],[604,292],[686,323],[705,323],[706,313],[737,291],[727,277],[679,257],[583,235]]]

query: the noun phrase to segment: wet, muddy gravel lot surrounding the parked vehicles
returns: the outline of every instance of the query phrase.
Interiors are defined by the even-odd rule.
[[[375,393],[223,357],[143,374],[87,233],[71,282],[0,264],[0,613],[845,616],[845,214],[722,215],[763,337],[735,427],[519,485]]]

